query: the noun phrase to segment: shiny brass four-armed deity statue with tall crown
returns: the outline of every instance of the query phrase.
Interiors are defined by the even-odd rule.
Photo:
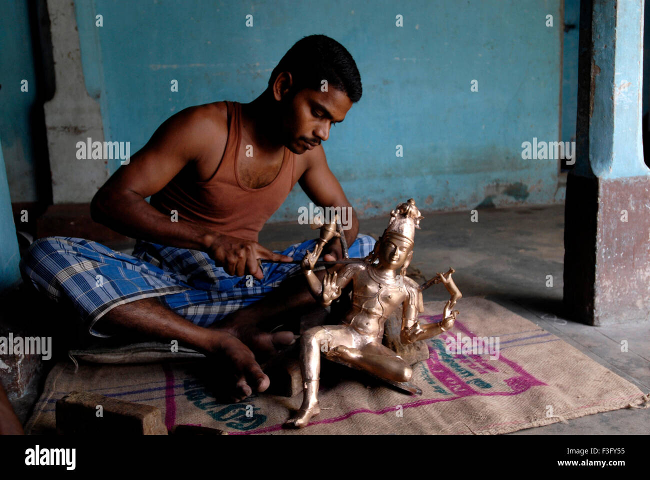
[[[312,294],[328,306],[352,282],[352,307],[340,325],[323,325],[304,332],[301,338],[300,366],[303,380],[303,401],[298,412],[288,420],[288,427],[302,428],[320,413],[318,382],[320,354],[363,369],[391,382],[408,382],[412,371],[393,350],[382,345],[383,326],[395,308],[402,305],[402,343],[413,343],[446,332],[454,325],[458,310],[452,310],[461,298],[451,274],[438,273],[423,286],[406,277],[406,268],[413,258],[413,237],[423,217],[411,198],[391,211],[391,220],[367,258],[356,263],[348,260],[325,274],[322,282],[313,268],[323,247],[337,232],[337,219],[320,229],[320,239],[313,252],[302,260],[302,270]],[[378,263],[375,263],[378,261]],[[318,262],[320,263],[320,262]],[[417,315],[422,312],[422,289],[442,283],[450,293],[438,323],[420,325]]]

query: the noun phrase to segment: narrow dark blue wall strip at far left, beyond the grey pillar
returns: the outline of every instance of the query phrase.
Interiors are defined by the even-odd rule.
[[[20,90],[22,79],[27,92]],[[37,81],[27,2],[0,0],[0,137],[12,202],[39,200],[29,120],[31,109],[38,107]]]

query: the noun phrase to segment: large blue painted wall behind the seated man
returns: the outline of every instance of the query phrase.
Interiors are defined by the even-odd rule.
[[[76,11],[105,135],[132,152],[189,105],[253,100],[296,40],[324,33],[361,72],[363,98],[324,144],[361,215],[408,196],[425,209],[553,201],[557,161],[523,160],[521,143],[560,139],[560,0],[95,0]],[[305,202],[296,187],[274,219]]]

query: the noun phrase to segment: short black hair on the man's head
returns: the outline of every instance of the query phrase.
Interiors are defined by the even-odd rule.
[[[292,46],[273,69],[268,86],[281,72],[291,72],[296,92],[303,88],[320,90],[322,80],[356,103],[361,98],[361,75],[345,47],[326,35],[309,35]]]

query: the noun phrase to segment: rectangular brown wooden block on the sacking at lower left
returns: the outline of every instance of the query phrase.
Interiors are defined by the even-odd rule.
[[[59,434],[168,434],[158,408],[98,393],[68,393],[57,401],[56,416]]]

